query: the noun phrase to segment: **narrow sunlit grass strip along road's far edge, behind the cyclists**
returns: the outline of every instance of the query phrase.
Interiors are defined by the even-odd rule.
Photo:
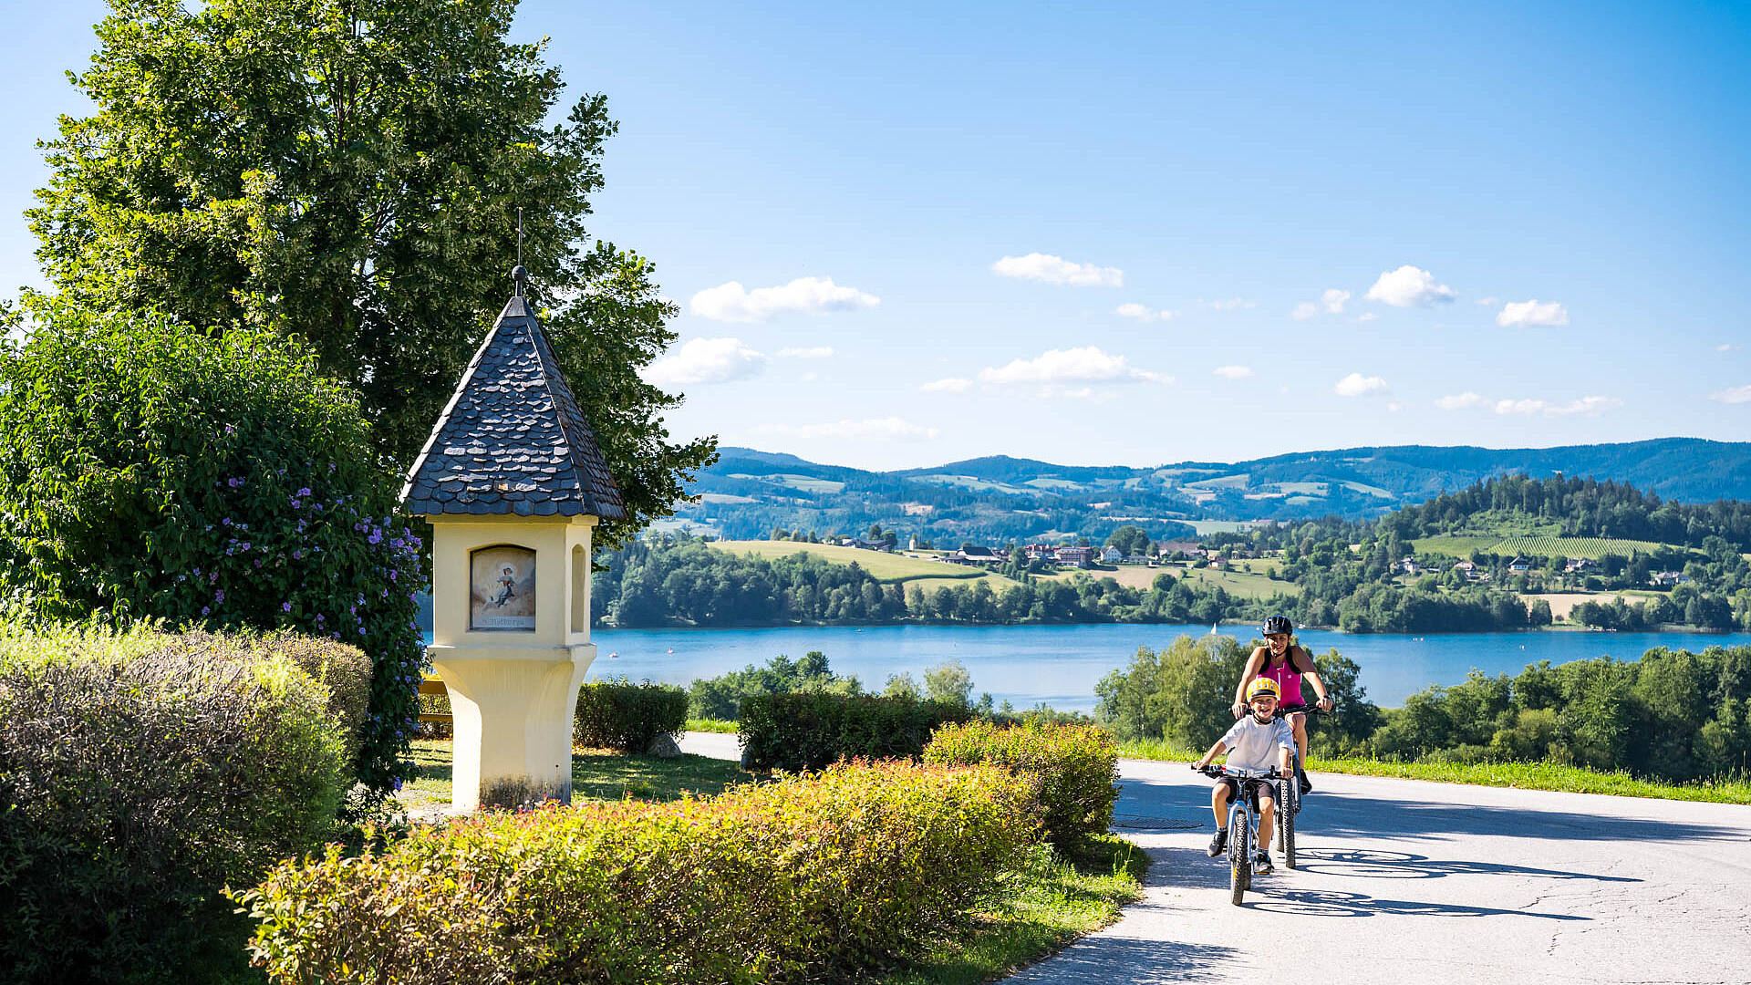
[[[1201,754],[1185,752],[1161,740],[1122,741],[1119,755],[1129,759],[1164,759],[1192,762]],[[1599,771],[1555,762],[1385,762],[1380,759],[1322,759],[1311,757],[1313,773],[1348,773],[1352,776],[1399,776],[1404,780],[1432,780],[1436,783],[1467,783],[1473,787],[1516,787],[1522,790],[1564,790],[1571,794],[1611,794],[1618,797],[1649,797],[1660,801],[1707,801],[1718,804],[1751,804],[1751,780],[1702,780],[1697,783],[1663,783],[1637,780],[1621,771]]]

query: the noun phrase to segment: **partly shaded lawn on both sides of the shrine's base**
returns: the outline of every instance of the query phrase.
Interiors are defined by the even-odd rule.
[[[397,799],[408,808],[450,801],[450,741],[415,740],[413,776]],[[721,794],[735,783],[753,780],[728,759],[704,755],[622,755],[606,748],[574,748],[571,754],[571,792],[574,797],[618,801],[674,801],[685,792]]]

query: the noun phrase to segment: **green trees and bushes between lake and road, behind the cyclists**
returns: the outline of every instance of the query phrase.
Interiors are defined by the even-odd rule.
[[[1247,652],[1222,636],[1138,650],[1098,685],[1096,719],[1126,755],[1189,759],[1233,720]],[[1474,671],[1401,708],[1371,705],[1336,650],[1315,659],[1336,713],[1313,720],[1310,752],[1333,771],[1730,803],[1751,790],[1751,647]]]

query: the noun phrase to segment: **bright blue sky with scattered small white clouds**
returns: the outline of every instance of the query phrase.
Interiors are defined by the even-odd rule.
[[[860,468],[1751,431],[1751,5],[525,0],[667,426]],[[103,5],[5,0],[0,293]],[[564,107],[560,107],[564,109]]]

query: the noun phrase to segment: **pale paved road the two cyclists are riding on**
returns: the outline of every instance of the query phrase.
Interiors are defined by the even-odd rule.
[[[1121,762],[1145,899],[1009,981],[1751,981],[1751,806],[1319,775],[1301,868],[1229,904],[1210,782]],[[1275,857],[1275,855],[1273,855]]]

